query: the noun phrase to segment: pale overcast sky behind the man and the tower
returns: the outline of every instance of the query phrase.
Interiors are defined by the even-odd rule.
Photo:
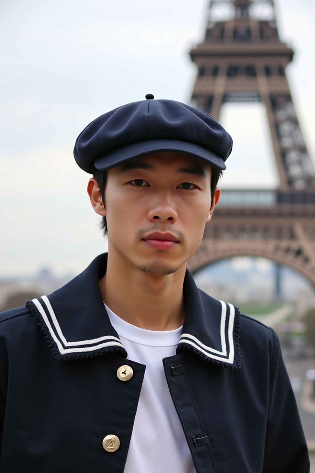
[[[203,40],[208,3],[1,1],[0,276],[45,266],[77,273],[105,250],[74,142],[96,116],[146,93],[189,103],[196,68],[188,52]],[[281,39],[296,52],[287,75],[314,160],[315,2],[275,3]],[[264,110],[255,107],[246,123],[248,111],[221,115],[234,139],[225,185],[272,187]]]

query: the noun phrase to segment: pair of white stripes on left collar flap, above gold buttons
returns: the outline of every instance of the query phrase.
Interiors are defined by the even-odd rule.
[[[41,299],[43,300],[43,303],[45,304],[46,308],[48,309],[49,315],[51,316],[52,325],[49,321],[49,318],[46,315],[45,308],[41,304],[40,300],[33,299],[32,302],[36,306],[40,315],[43,317],[43,321],[49,330],[51,338],[56,343],[61,355],[64,355],[67,353],[82,353],[82,352],[94,351],[94,350],[99,350],[100,348],[111,347],[111,346],[119,346],[121,348],[124,348],[119,338],[111,336],[111,335],[104,335],[102,337],[94,338],[91,340],[81,340],[79,342],[68,342],[61,331],[60,325],[53,311],[53,308],[51,307],[51,303],[48,297],[42,296]],[[91,345],[91,346],[82,347],[80,345]],[[74,348],[64,348],[64,347],[74,347]]]

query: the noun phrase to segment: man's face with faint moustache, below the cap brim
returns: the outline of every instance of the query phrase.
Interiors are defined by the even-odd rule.
[[[114,167],[105,190],[109,255],[150,274],[175,272],[198,249],[214,204],[202,160],[160,152]]]

